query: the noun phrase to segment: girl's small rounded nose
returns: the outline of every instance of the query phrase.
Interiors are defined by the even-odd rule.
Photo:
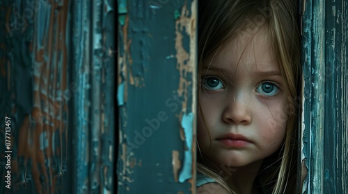
[[[248,95],[232,96],[226,100],[223,121],[229,124],[247,125],[251,123],[251,102]]]

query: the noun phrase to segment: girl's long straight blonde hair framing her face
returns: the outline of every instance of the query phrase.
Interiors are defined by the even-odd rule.
[[[280,72],[285,79],[287,126],[283,147],[264,159],[258,179],[269,189],[267,193],[296,193],[297,109],[299,86],[299,21],[298,5],[292,0],[214,0],[199,1],[198,10],[198,75],[203,63],[211,62],[219,48],[245,30],[267,28],[276,53]],[[200,91],[198,90],[198,104]],[[200,111],[202,114],[202,111]],[[204,116],[203,116],[204,120]],[[209,134],[209,131],[208,131]],[[198,146],[199,149],[199,146]],[[219,177],[205,167],[198,153],[198,172],[216,179],[230,193],[235,193]]]

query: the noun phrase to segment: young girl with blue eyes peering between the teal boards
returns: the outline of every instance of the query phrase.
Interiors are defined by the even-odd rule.
[[[199,1],[197,193],[296,193],[296,1]]]

